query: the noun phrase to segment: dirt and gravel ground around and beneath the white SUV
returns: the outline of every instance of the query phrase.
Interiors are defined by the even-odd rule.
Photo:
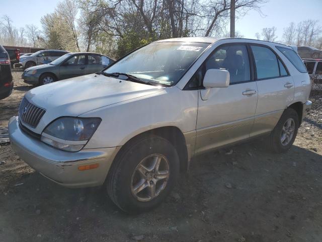
[[[13,72],[0,128],[32,88]],[[322,241],[322,96],[282,155],[254,141],[193,159],[170,197],[136,216],[103,188],[67,189],[0,148],[0,241]],[[228,154],[227,154],[228,153]]]

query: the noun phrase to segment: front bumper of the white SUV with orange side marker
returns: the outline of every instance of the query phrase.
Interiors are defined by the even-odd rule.
[[[58,150],[21,130],[18,117],[9,120],[9,136],[15,153],[36,171],[57,184],[69,188],[100,186],[120,147],[83,149],[78,152]],[[79,166],[99,164],[95,169]]]

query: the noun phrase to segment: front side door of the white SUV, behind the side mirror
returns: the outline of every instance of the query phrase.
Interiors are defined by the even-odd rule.
[[[206,70],[229,71],[230,84],[227,88],[200,90],[196,153],[248,138],[258,96],[246,45],[219,46],[204,65]]]

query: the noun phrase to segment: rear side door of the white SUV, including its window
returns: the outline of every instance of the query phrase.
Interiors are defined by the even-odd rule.
[[[278,55],[266,45],[251,44],[258,102],[251,136],[270,132],[294,99],[294,82]]]

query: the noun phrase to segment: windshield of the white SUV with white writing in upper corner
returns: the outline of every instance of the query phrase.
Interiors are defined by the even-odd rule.
[[[125,56],[105,73],[126,73],[150,82],[176,84],[209,43],[158,42]]]

